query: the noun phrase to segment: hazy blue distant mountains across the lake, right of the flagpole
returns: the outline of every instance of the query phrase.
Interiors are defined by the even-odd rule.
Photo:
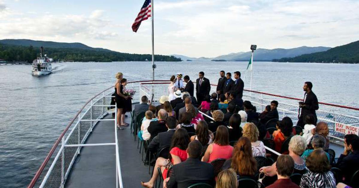
[[[330,47],[308,47],[308,46],[301,46],[292,49],[262,49],[259,48],[255,50],[253,55],[253,60],[255,61],[272,61],[272,59],[281,59],[281,58],[292,58],[302,54],[311,54],[314,52],[322,52],[331,49]],[[251,58],[252,52],[237,52],[237,53],[230,53],[227,55],[220,55],[214,58],[191,58],[184,55],[177,55],[173,54],[173,56],[177,58],[181,58],[183,61],[191,60],[191,61],[208,61],[208,60],[227,60],[227,61],[248,61]]]

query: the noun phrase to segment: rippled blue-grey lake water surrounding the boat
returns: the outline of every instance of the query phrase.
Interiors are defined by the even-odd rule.
[[[215,84],[220,70],[247,68],[247,62],[156,64],[156,79],[182,73],[195,81],[204,71]],[[129,81],[152,78],[150,62],[53,67],[52,74],[33,77],[31,65],[0,66],[0,187],[25,187],[70,119],[90,97],[115,83],[115,73],[124,73]],[[311,81],[319,101],[359,106],[359,64],[254,62],[253,69],[252,90],[302,98],[303,83]]]

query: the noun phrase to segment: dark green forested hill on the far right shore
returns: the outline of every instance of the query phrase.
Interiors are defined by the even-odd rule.
[[[359,41],[337,46],[323,52],[303,54],[294,58],[273,59],[274,62],[359,63]]]

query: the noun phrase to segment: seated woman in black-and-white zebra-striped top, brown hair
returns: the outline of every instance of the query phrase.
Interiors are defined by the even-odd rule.
[[[306,165],[309,171],[302,176],[301,188],[336,188],[334,174],[330,171],[330,162],[322,149],[314,150],[308,156]]]

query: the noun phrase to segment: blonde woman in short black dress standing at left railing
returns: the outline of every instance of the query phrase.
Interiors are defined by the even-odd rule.
[[[123,129],[121,126],[121,116],[122,116],[122,111],[123,111],[123,107],[125,107],[125,103],[124,101],[129,98],[129,96],[125,96],[123,95],[123,86],[121,84],[122,81],[122,77],[123,74],[118,72],[115,77],[117,78],[116,82],[115,82],[115,101],[116,101],[116,106],[117,106],[117,128],[118,129]]]

